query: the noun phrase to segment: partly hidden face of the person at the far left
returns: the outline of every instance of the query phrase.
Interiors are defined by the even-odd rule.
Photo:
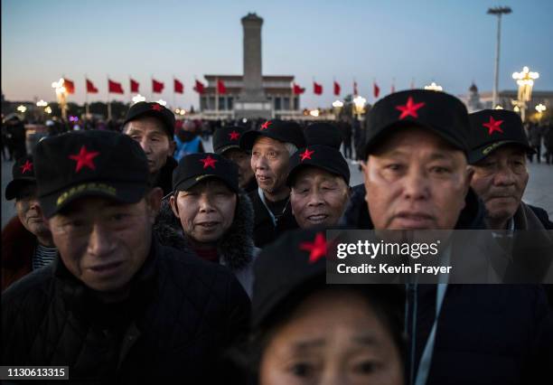
[[[36,183],[23,185],[15,198],[15,211],[23,227],[37,237],[50,237],[42,221],[42,210],[36,197]]]

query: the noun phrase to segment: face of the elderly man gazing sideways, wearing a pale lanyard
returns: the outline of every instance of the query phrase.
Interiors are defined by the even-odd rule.
[[[261,136],[251,151],[251,168],[258,186],[267,193],[278,193],[286,189],[286,176],[290,154],[284,143]]]

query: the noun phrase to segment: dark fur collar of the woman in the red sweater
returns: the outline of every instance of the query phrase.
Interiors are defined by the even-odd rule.
[[[154,226],[155,236],[165,246],[174,249],[192,250],[184,237],[181,221],[174,216],[168,199],[162,202],[162,208]],[[220,264],[227,266],[238,278],[249,296],[253,286],[253,263],[258,249],[253,243],[253,208],[245,192],[239,193],[234,221],[230,229],[220,239],[218,246]]]

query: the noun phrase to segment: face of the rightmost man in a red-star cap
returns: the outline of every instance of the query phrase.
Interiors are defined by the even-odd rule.
[[[486,205],[489,218],[508,221],[520,206],[528,183],[526,153],[516,145],[502,146],[473,165],[471,186]]]

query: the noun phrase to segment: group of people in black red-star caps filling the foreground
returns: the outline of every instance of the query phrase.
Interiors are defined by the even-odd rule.
[[[139,102],[118,129],[19,156],[2,365],[93,383],[552,383],[549,285],[326,284],[329,229],[531,230],[550,250],[548,212],[522,201],[534,127],[423,89],[362,128],[240,123],[214,124],[209,153],[196,124]]]

